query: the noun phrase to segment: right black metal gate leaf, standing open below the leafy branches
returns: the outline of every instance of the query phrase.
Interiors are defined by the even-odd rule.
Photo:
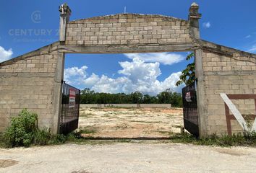
[[[196,83],[182,89],[184,128],[194,136],[199,136],[197,115]]]

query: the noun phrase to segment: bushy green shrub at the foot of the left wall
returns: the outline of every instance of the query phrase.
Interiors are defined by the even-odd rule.
[[[53,135],[48,128],[38,129],[38,115],[22,110],[17,117],[12,117],[11,125],[0,136],[0,146],[30,146],[59,144],[66,141],[64,135]]]

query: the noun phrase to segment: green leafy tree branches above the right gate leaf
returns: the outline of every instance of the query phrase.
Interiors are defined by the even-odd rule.
[[[195,53],[190,53],[186,60],[189,61],[191,58],[195,58]],[[179,81],[176,82],[176,86],[185,84],[186,86],[191,85],[196,80],[195,77],[195,61],[187,64],[187,68],[182,71],[182,75],[179,76]]]

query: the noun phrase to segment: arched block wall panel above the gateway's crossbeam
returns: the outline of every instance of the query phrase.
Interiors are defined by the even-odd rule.
[[[66,45],[190,42],[188,21],[161,15],[115,14],[67,23]]]

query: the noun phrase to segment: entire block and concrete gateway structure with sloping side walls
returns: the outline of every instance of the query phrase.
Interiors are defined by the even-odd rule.
[[[195,51],[200,136],[226,133],[225,105],[219,94],[256,94],[256,55],[200,40],[198,9],[193,3],[187,20],[114,14],[69,21],[71,10],[61,5],[58,42],[0,63],[0,130],[7,127],[9,117],[27,107],[38,113],[41,127],[58,133],[65,53],[189,50]],[[241,131],[237,124],[232,128]]]

